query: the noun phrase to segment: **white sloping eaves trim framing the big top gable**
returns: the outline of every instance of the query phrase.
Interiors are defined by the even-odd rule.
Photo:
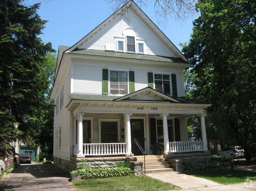
[[[109,22],[111,22],[116,16],[120,15],[123,11],[125,11],[127,8],[131,8],[134,13],[136,13],[148,26],[148,28],[155,33],[158,38],[169,48],[169,50],[174,53],[174,56],[177,58],[180,58],[181,60],[184,60],[186,63],[190,63],[189,60],[180,52],[180,50],[165,36],[165,34],[148,18],[148,16],[138,7],[137,4],[133,0],[129,0],[125,5],[123,5],[118,11],[113,13],[113,15],[109,16],[104,22],[102,22],[100,25],[98,25],[93,31],[91,31],[88,35],[83,37],[80,41],[78,41],[76,44],[74,44],[72,47],[70,47],[66,53],[72,52],[74,49],[78,49],[80,45],[82,45],[84,42],[86,42],[89,38],[93,37],[97,33],[99,33],[106,25],[108,25]]]

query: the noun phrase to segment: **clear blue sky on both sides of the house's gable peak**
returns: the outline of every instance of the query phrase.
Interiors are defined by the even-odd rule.
[[[25,4],[37,2],[41,2],[37,13],[42,19],[48,20],[43,30],[44,34],[40,37],[43,42],[51,42],[56,51],[59,45],[76,44],[113,14],[111,4],[106,0],[25,0]],[[153,4],[141,9],[155,24],[158,23]],[[192,33],[192,19],[194,18],[187,20],[186,23],[170,20],[165,27],[158,27],[181,50],[180,42],[188,42]]]

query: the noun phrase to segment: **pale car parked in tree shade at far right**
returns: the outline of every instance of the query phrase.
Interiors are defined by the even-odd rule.
[[[236,146],[236,147],[225,147],[221,151],[218,151],[216,155],[227,156],[234,159],[237,157],[243,157],[245,154],[241,147]]]

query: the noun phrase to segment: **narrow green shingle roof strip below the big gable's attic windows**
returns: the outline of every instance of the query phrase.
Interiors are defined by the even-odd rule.
[[[116,52],[84,50],[84,49],[74,49],[70,53],[79,54],[79,55],[89,55],[89,56],[107,56],[107,57],[113,57],[113,58],[129,58],[129,59],[136,59],[136,60],[150,60],[150,61],[189,64],[188,62],[185,62],[180,58],[165,57],[165,56],[138,55],[138,54],[131,54],[131,53],[116,53]]]

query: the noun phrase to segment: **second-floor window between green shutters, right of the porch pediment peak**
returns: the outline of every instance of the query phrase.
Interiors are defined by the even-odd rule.
[[[154,74],[155,89],[164,94],[171,95],[171,81],[168,74]]]

